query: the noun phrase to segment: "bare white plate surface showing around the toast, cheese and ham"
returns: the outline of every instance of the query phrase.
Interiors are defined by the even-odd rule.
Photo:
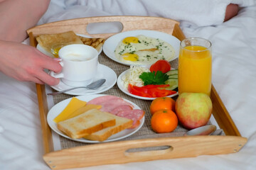
[[[92,94],[92,95],[86,95],[86,96],[77,96],[76,98],[82,100],[82,101],[90,101],[93,98],[97,98],[100,96],[105,96],[105,94]],[[86,140],[84,138],[80,138],[80,139],[72,139],[70,137],[68,137],[67,135],[65,135],[63,132],[61,132],[60,130],[58,130],[56,123],[53,121],[53,119],[60,114],[61,111],[63,111],[63,109],[68,106],[68,103],[70,102],[71,98],[68,98],[64,101],[60,101],[60,103],[57,103],[55,106],[53,106],[52,108],[50,108],[50,111],[48,112],[47,115],[47,122],[48,125],[50,126],[50,128],[55,131],[56,133],[58,133],[58,135],[61,135],[63,137],[66,137],[70,140],[75,140],[78,142],[84,142],[84,143],[100,143],[99,141],[95,141],[95,140]],[[137,106],[135,103],[132,103],[132,101],[128,101],[127,99],[124,98],[124,101],[127,101],[129,103],[131,103],[134,106],[134,109],[141,109],[139,108],[139,106]],[[127,129],[127,130],[122,130],[121,132],[118,132],[117,134],[114,134],[112,136],[110,136],[107,140],[105,140],[104,142],[112,142],[115,140],[121,140],[124,137],[128,137],[132,134],[134,134],[135,132],[137,132],[140,128],[142,128],[142,125],[144,123],[145,118],[143,117],[140,120],[140,124],[137,128],[133,128],[133,129]]]

